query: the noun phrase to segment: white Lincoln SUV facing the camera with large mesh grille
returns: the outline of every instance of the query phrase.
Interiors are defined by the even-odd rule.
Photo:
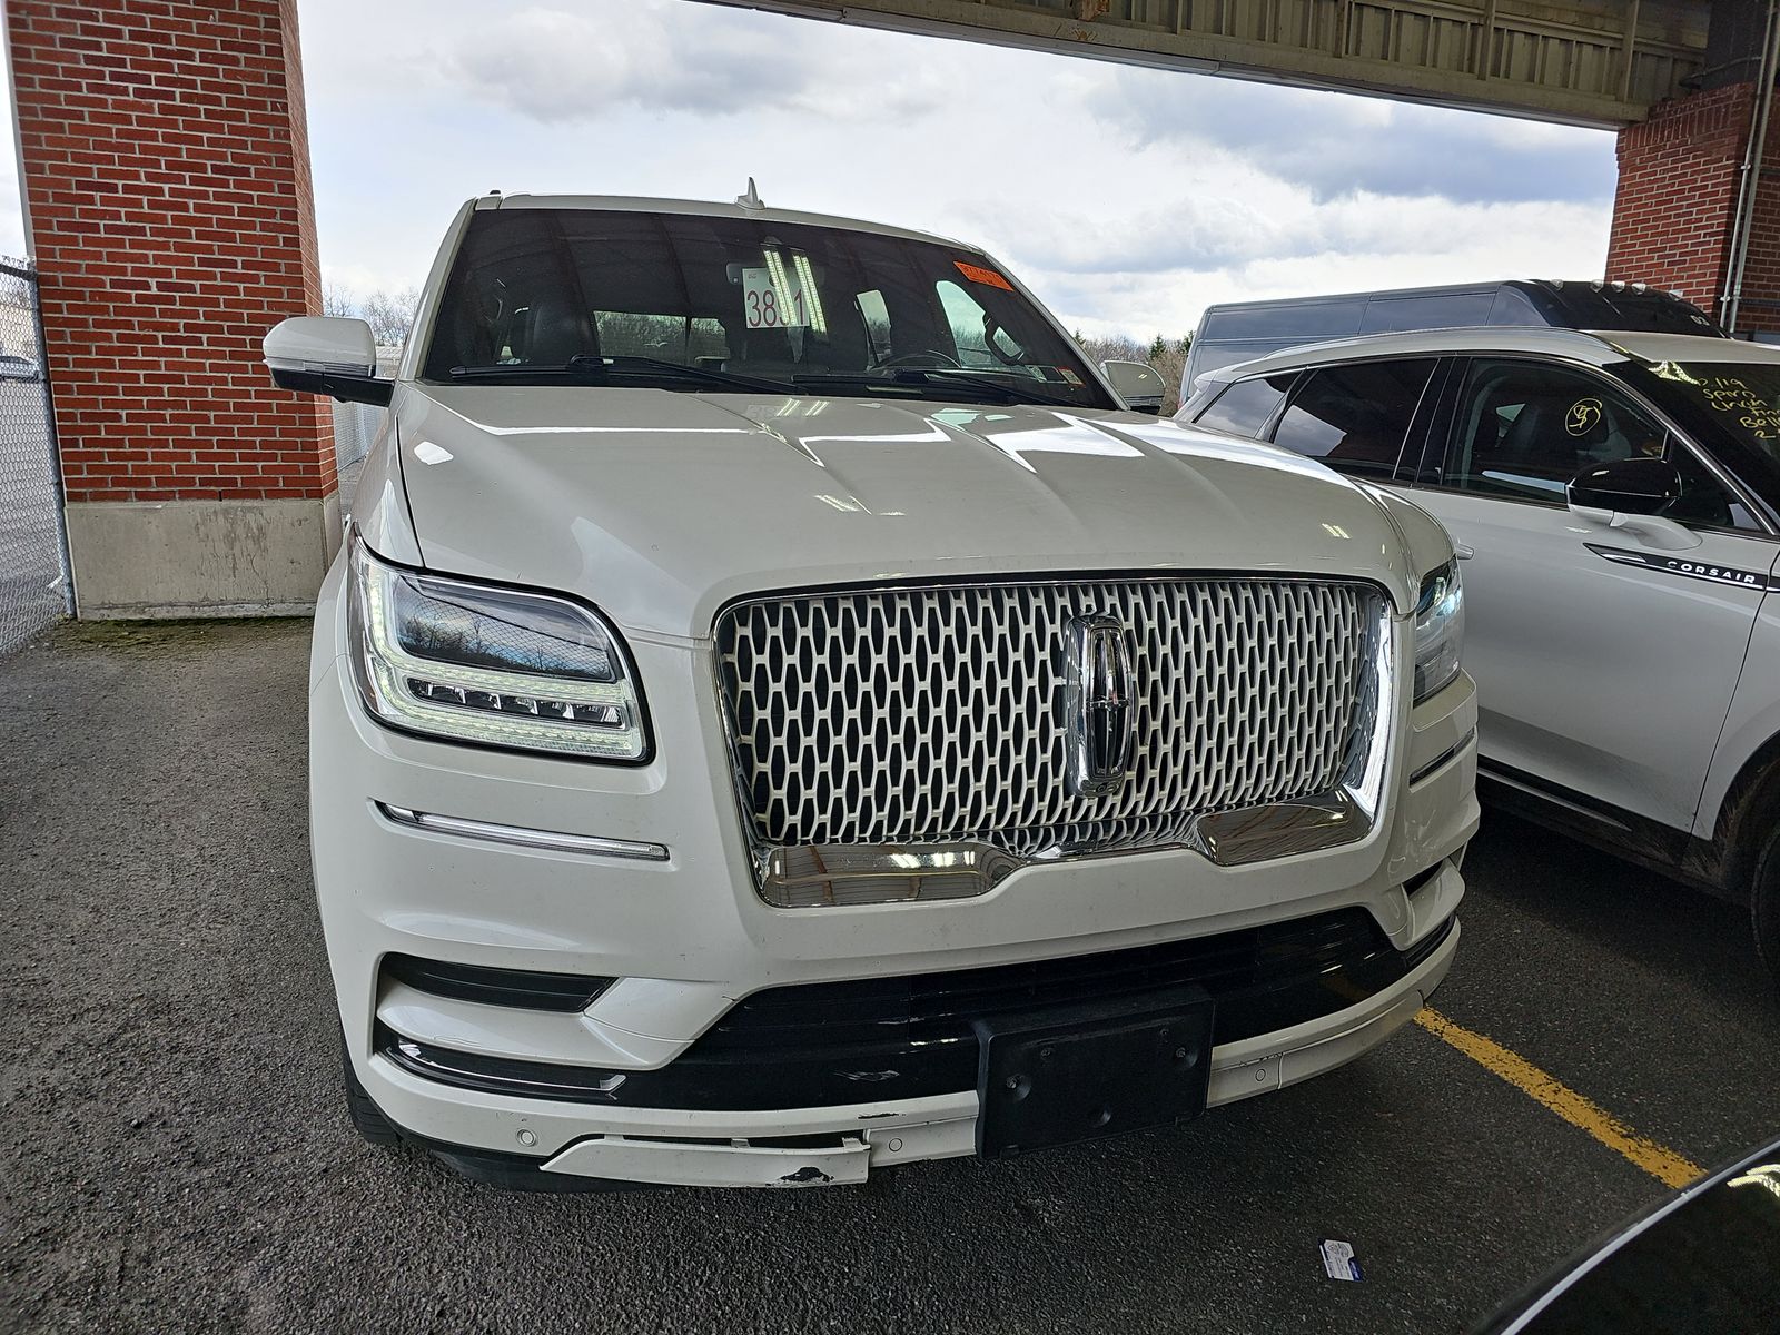
[[[347,1100],[482,1180],[819,1185],[1189,1120],[1403,1025],[1477,822],[1452,548],[1130,411],[988,255],[498,198],[310,682]],[[1121,397],[1121,390],[1129,399]]]

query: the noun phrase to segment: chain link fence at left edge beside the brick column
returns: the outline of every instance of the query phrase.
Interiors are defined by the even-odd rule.
[[[71,607],[37,274],[0,258],[0,655]]]

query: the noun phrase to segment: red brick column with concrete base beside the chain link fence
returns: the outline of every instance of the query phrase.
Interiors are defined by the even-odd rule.
[[[326,400],[260,338],[320,310],[295,0],[7,0],[82,616],[313,605]]]

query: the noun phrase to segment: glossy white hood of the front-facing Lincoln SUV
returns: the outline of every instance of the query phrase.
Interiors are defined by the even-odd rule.
[[[762,589],[1054,571],[1347,575],[1404,609],[1447,559],[1321,465],[1136,413],[402,384],[395,415],[429,570],[628,630],[701,637]]]

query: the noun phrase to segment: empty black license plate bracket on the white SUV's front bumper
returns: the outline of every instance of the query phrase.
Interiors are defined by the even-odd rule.
[[[977,1153],[1189,1121],[1210,1089],[1212,999],[1182,986],[974,1022]]]

